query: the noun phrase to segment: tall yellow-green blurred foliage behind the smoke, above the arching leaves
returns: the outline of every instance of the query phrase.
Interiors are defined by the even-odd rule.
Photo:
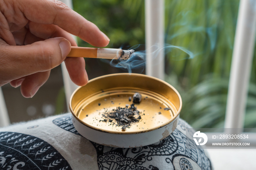
[[[214,77],[228,77],[239,1],[166,3],[166,43],[185,47],[194,54],[184,59],[188,58],[186,53],[171,51],[167,54],[167,73],[173,71],[180,79],[187,78],[186,88],[195,86],[209,73]]]

